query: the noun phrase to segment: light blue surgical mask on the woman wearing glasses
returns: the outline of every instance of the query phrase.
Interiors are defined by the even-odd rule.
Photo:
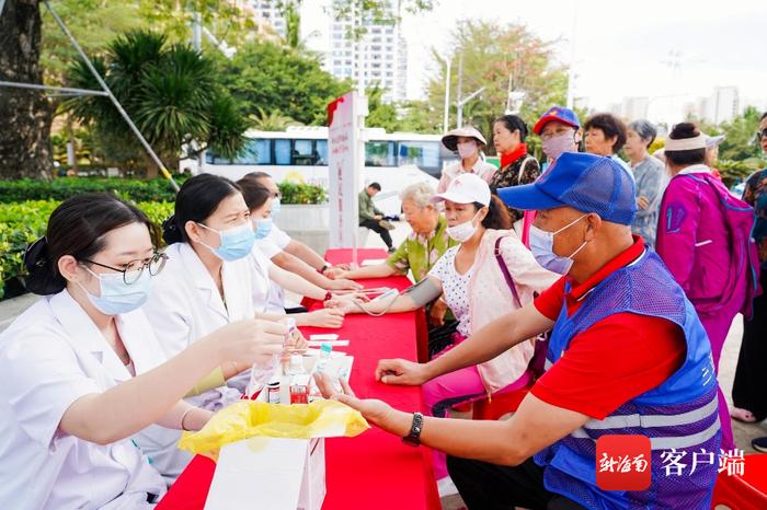
[[[99,279],[101,295],[91,294],[79,281],[78,285],[85,291],[91,304],[104,315],[133,312],[149,299],[152,277],[146,269],[130,285],[125,282],[121,273],[99,275],[87,267],[84,269]]]

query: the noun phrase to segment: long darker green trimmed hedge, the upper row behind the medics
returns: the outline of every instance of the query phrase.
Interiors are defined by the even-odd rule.
[[[187,177],[182,176],[183,182]],[[181,182],[180,182],[181,184]],[[327,193],[311,184],[279,183],[283,204],[323,204]],[[163,178],[138,181],[121,177],[59,177],[51,182],[36,179],[0,181],[0,204],[26,200],[66,200],[82,193],[106,192],[136,202],[173,201],[175,194]]]

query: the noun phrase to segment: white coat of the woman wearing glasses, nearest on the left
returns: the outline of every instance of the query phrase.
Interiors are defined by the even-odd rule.
[[[115,318],[138,372],[162,362],[140,310]],[[129,378],[66,290],[0,335],[0,508],[151,508],[147,494],[165,485],[130,439],[102,447],[58,428],[75,401]]]

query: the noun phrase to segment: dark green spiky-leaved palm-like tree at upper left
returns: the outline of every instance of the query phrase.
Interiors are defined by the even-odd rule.
[[[247,119],[217,82],[213,60],[190,46],[169,46],[163,35],[151,32],[129,32],[108,46],[104,58],[94,58],[93,65],[169,167],[178,165],[182,146],[194,147],[194,153],[215,146],[224,157],[242,149]],[[95,86],[80,61],[71,66],[68,82],[83,89]],[[108,98],[78,97],[67,106],[79,120],[94,127],[108,152],[127,149],[144,154]],[[149,169],[149,176],[157,175],[153,164]]]

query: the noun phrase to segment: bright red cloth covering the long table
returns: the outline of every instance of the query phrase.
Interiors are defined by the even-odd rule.
[[[358,260],[385,258],[382,250],[359,250]],[[339,264],[352,259],[351,250],[331,250],[328,262]],[[411,282],[404,277],[360,280],[367,288],[394,287],[400,290]],[[419,387],[387,386],[375,380],[381,358],[417,357],[416,335],[423,329],[423,315],[390,314],[382,317],[347,315],[341,329],[302,327],[308,338],[314,333],[337,333],[350,339],[339,348],[354,356],[351,385],[360,398],[380,398],[393,407],[415,412],[422,409]],[[422,333],[422,332],[421,332]],[[196,456],[181,474],[157,510],[202,510],[205,506],[216,465]],[[432,456],[426,448],[403,444],[400,438],[377,428],[356,438],[325,440],[328,495],[322,508],[341,509],[440,509],[432,473]],[[257,495],[253,501],[257,506]],[[267,509],[265,509],[267,510]]]

